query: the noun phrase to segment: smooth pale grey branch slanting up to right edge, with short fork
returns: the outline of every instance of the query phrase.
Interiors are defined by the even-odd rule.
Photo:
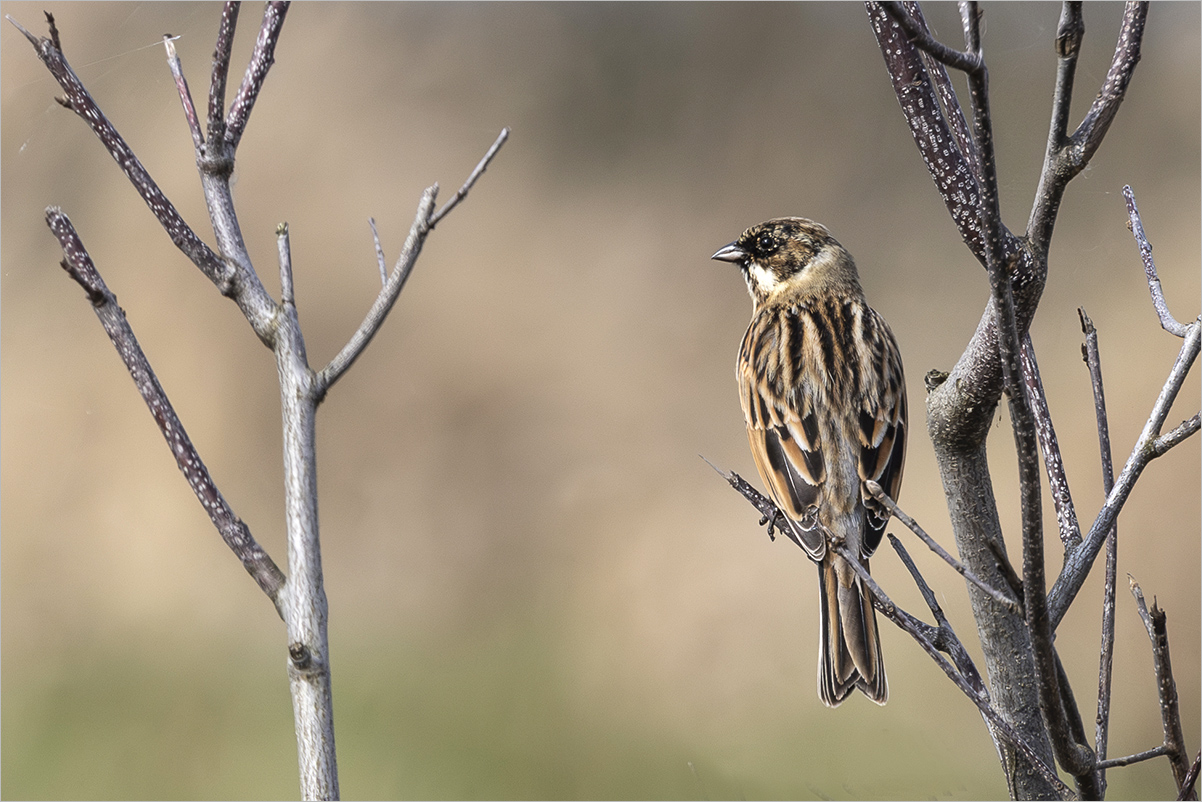
[[[1156,403],[1153,405],[1152,414],[1148,416],[1148,422],[1144,424],[1138,440],[1136,440],[1135,447],[1131,450],[1131,456],[1127,457],[1126,464],[1119,473],[1119,477],[1114,481],[1114,487],[1106,497],[1106,504],[1097,511],[1097,517],[1094,519],[1094,525],[1090,527],[1089,534],[1085,535],[1081,546],[1065,554],[1060,576],[1057,578],[1051,593],[1048,593],[1048,616],[1051,617],[1053,630],[1060,624],[1064,614],[1069,611],[1069,605],[1072,604],[1072,600],[1081,590],[1081,586],[1085,582],[1089,569],[1101,551],[1102,543],[1111,531],[1111,527],[1114,525],[1119,511],[1126,504],[1126,499],[1131,494],[1131,488],[1135,487],[1139,474],[1143,473],[1149,462],[1198,430],[1198,416],[1195,416],[1165,436],[1156,436],[1165,423],[1165,418],[1168,416],[1173,399],[1177,398],[1177,393],[1185,382],[1185,376],[1189,374],[1190,367],[1198,355],[1200,340],[1202,340],[1202,319],[1190,325],[1185,341],[1182,344],[1182,350],[1177,355],[1177,361],[1173,363],[1173,368],[1168,373],[1168,379],[1165,381],[1165,386],[1161,388],[1160,396],[1156,397]]]

